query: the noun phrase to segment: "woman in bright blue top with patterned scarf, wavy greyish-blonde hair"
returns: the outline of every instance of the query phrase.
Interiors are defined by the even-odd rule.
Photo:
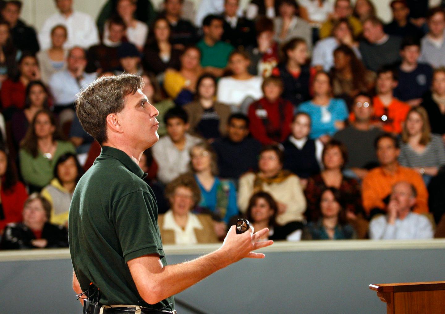
[[[209,144],[194,145],[190,149],[190,159],[190,168],[201,190],[201,202],[198,205],[210,210],[215,232],[218,237],[222,237],[227,232],[230,218],[238,215],[235,185],[217,177],[216,154]]]

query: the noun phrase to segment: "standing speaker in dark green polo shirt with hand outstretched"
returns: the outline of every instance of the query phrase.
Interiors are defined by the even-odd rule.
[[[138,166],[159,138],[158,110],[142,85],[140,76],[102,77],[76,101],[82,127],[102,151],[77,184],[69,210],[73,289],[81,294],[93,282],[105,314],[174,313],[174,294],[242,258],[263,258],[252,251],[272,244],[257,242],[267,228],[236,234],[232,226],[218,250],[167,266],[156,200]]]

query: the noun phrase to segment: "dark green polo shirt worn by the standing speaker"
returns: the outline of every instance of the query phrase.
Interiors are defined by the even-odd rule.
[[[155,305],[142,301],[127,262],[146,254],[166,258],[158,229],[153,191],[142,180],[146,173],[123,151],[102,147],[82,176],[69,208],[69,250],[82,291],[93,282],[101,304],[140,304],[173,310],[174,298]],[[169,304],[171,304],[169,306]]]

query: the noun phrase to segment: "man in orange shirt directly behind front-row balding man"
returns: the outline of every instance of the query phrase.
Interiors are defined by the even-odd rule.
[[[380,167],[369,171],[363,179],[362,198],[365,212],[369,216],[384,213],[392,186],[397,182],[406,181],[412,184],[417,191],[416,205],[413,211],[427,213],[428,192],[425,183],[415,170],[399,165],[397,157],[399,157],[400,149],[396,138],[385,133],[377,137],[375,145]]]

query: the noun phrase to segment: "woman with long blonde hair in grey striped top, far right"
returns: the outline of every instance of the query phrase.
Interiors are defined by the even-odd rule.
[[[431,133],[428,113],[423,107],[409,110],[402,131],[402,143],[399,155],[402,166],[418,171],[429,184],[442,165],[445,165],[445,148],[442,139]]]

